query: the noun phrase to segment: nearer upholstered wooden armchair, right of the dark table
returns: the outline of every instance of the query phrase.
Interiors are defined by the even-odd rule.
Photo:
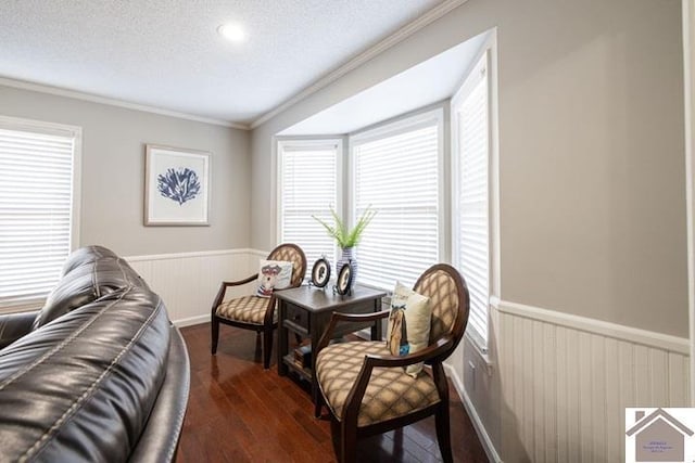
[[[468,322],[468,288],[448,265],[435,265],[420,275],[414,290],[430,298],[429,346],[403,357],[392,356],[386,342],[330,344],[331,332],[344,322],[387,318],[389,310],[366,316],[333,313],[318,345],[316,374],[323,403],[331,416],[338,460],[354,462],[357,438],[381,434],[435,416],[442,458],[452,461],[448,424],[448,384],[442,362],[460,342]],[[364,326],[364,325],[363,325]],[[431,365],[416,377],[405,366]]]

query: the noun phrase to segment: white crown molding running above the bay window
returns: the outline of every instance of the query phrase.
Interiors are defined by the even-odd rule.
[[[420,30],[425,26],[433,23],[434,21],[439,20],[440,17],[444,16],[445,14],[447,14],[450,11],[454,10],[457,7],[460,7],[462,4],[466,3],[467,1],[468,0],[445,0],[445,1],[443,1],[442,3],[438,4],[433,9],[427,11],[425,14],[419,16],[417,20],[406,24],[405,26],[401,27],[399,30],[396,30],[395,33],[393,33],[392,35],[387,37],[386,39],[381,40],[380,42],[376,43],[375,46],[372,46],[372,47],[368,48],[367,50],[363,51],[362,53],[359,53],[358,55],[356,55],[355,57],[353,57],[352,60],[350,60],[349,62],[346,62],[342,66],[338,67],[337,69],[331,70],[330,73],[328,73],[324,77],[319,78],[314,83],[309,85],[304,90],[302,90],[299,93],[296,93],[294,97],[291,97],[289,100],[285,101],[280,105],[276,106],[275,108],[273,108],[273,110],[268,111],[267,113],[263,114],[261,117],[258,117],[257,119],[255,119],[255,120],[253,120],[251,123],[250,128],[251,129],[255,129],[256,127],[258,127],[263,123],[271,119],[273,117],[275,117],[278,114],[280,114],[283,111],[286,111],[287,108],[289,108],[289,107],[293,106],[294,104],[299,103],[300,101],[304,100],[306,97],[308,97],[308,95],[311,95],[313,93],[316,93],[317,91],[319,91],[320,89],[323,89],[325,87],[328,87],[330,83],[334,82],[336,80],[338,80],[339,78],[341,78],[345,74],[348,74],[351,70],[362,66],[364,63],[366,63],[367,61],[374,59],[375,56],[383,53],[384,51],[389,50],[391,47],[402,42],[403,40],[407,39],[413,34],[417,33],[418,30]]]

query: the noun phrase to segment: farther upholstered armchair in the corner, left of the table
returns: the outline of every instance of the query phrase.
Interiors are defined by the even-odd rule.
[[[295,244],[281,244],[270,252],[268,260],[283,260],[292,262],[292,279],[289,287],[296,287],[302,284],[306,272],[306,257],[304,252]],[[278,314],[275,310],[276,299],[270,297],[243,296],[225,300],[227,288],[251,283],[258,278],[258,274],[251,275],[244,280],[233,282],[223,282],[219,292],[215,297],[211,312],[212,324],[212,355],[217,352],[217,342],[219,339],[219,324],[228,324],[245,330],[254,330],[256,336],[263,333],[263,368],[270,366],[270,351],[273,350],[273,330],[278,325]],[[281,290],[276,290],[281,291]]]

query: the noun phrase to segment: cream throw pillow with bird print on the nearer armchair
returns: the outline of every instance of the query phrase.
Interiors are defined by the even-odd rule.
[[[387,329],[387,347],[391,353],[407,356],[426,348],[430,340],[431,318],[430,298],[396,282]],[[408,365],[405,371],[415,377],[422,371],[422,363]]]

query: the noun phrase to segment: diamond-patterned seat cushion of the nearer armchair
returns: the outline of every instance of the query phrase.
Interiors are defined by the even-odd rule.
[[[338,420],[342,420],[345,400],[366,353],[391,355],[383,342],[332,344],[318,353],[318,384]],[[357,426],[403,416],[439,401],[434,382],[426,372],[414,378],[401,366],[375,368],[359,407]]]

